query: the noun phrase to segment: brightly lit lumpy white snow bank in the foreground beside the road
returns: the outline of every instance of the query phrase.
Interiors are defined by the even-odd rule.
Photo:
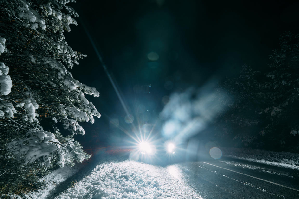
[[[167,169],[135,161],[102,163],[57,199],[201,198]]]

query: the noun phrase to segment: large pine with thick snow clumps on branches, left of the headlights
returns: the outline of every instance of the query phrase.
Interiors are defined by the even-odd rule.
[[[67,70],[86,56],[72,50],[63,36],[77,24],[68,2],[0,2],[1,183],[32,183],[47,169],[89,158],[72,136],[85,134],[78,122],[100,117],[84,96],[99,92]],[[62,127],[69,135],[60,133]]]

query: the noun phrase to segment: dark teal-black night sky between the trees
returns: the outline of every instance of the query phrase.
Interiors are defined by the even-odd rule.
[[[87,54],[71,72],[100,92],[99,98],[88,98],[102,116],[94,124],[82,124],[86,135],[77,139],[84,148],[121,140],[125,135],[113,121],[127,130],[130,124],[82,22],[135,125],[136,118],[152,124],[167,101],[164,96],[173,92],[201,87],[211,79],[221,84],[243,64],[266,72],[279,36],[299,29],[299,3],[286,1],[109,0],[71,6],[81,21],[76,18],[78,26],[65,33],[66,41]]]

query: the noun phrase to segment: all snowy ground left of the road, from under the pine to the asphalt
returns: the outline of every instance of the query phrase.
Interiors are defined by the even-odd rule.
[[[69,181],[79,170],[80,173],[85,172],[83,173],[85,177],[74,186],[65,187],[66,190],[60,193],[57,199],[202,198],[184,182],[178,167],[172,165],[162,167],[128,160],[128,156],[114,154],[117,151],[110,149],[101,151],[100,155],[94,157],[96,161],[89,165],[92,170],[85,168],[82,170],[80,169],[82,166],[75,169],[67,166],[57,169],[40,179],[45,182],[40,189],[22,197],[11,195],[10,198],[54,198],[59,193],[57,190],[65,187],[64,181]]]

